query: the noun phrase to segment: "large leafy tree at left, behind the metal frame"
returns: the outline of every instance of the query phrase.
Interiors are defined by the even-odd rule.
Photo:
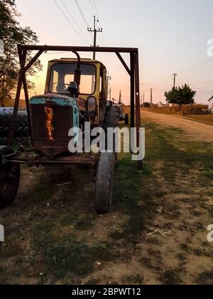
[[[17,44],[38,43],[38,37],[30,27],[21,27],[16,18],[20,16],[16,9],[16,0],[0,0],[0,40],[4,41],[4,56],[0,57],[0,105],[4,106],[6,99],[11,98],[16,89],[19,58]],[[30,61],[28,53],[26,61]],[[34,88],[29,76],[35,75],[42,66],[37,61],[28,70],[28,88]]]

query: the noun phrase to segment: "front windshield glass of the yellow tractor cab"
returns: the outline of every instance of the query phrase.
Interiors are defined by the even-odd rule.
[[[55,63],[51,70],[50,93],[68,93],[70,82],[74,81],[77,63]],[[81,64],[80,93],[92,95],[95,90],[96,67],[90,64]]]

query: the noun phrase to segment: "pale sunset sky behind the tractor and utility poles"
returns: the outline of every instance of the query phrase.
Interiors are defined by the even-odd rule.
[[[153,88],[153,102],[165,103],[164,93],[173,87],[173,73],[178,73],[177,85],[187,83],[197,91],[197,103],[207,103],[212,96],[213,57],[207,56],[207,41],[213,39],[212,0],[78,0],[86,20],[75,0],[62,0],[69,13],[61,0],[55,1],[16,0],[21,13],[18,21],[31,26],[38,34],[39,44],[90,46],[92,36],[86,23],[93,26],[95,12],[99,17],[97,26],[103,28],[103,33],[98,33],[99,46],[139,48],[141,95],[145,93],[146,101],[150,101]],[[92,58],[89,53],[81,56]],[[48,61],[62,57],[72,54],[49,53],[41,57],[43,72],[33,78],[35,90],[31,95],[44,92]],[[124,58],[129,64],[129,57]],[[124,103],[129,104],[129,75],[118,58],[102,53],[97,54],[97,60],[106,65],[111,75],[112,97],[119,98],[122,90]]]

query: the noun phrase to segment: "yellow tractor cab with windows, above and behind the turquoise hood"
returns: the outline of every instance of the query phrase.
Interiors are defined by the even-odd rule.
[[[80,78],[76,79],[77,59],[61,58],[50,61],[45,84],[45,94],[75,95],[80,108],[91,113],[97,107],[95,122],[99,122],[100,102],[107,100],[107,70],[99,61],[81,59]],[[75,81],[77,90],[75,90]]]

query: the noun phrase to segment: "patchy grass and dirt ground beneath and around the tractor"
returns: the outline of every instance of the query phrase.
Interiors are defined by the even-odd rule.
[[[35,186],[5,211],[7,237],[0,247],[0,283],[21,283],[19,279],[24,277],[40,284],[109,281],[141,284],[146,283],[143,273],[146,269],[158,283],[180,284],[184,283],[182,277],[187,276],[187,272],[184,276],[182,272],[187,271],[188,256],[205,257],[210,263],[208,243],[199,246],[204,240],[197,240],[193,246],[182,236],[189,234],[192,238],[197,232],[203,234],[203,224],[212,219],[212,209],[203,199],[205,192],[212,194],[207,189],[212,186],[212,145],[190,141],[179,129],[148,122],[143,125],[146,125],[143,172],[137,172],[130,154],[119,155],[113,209],[108,215],[100,217],[94,213],[94,186],[89,169],[87,172],[75,167],[42,170]],[[64,182],[70,185],[58,187]],[[185,205],[190,205],[189,211]],[[158,214],[159,208],[162,214]],[[167,229],[175,226],[175,222],[181,238],[175,243],[174,253],[165,246],[170,246],[168,240],[173,236],[148,238],[144,232],[146,226],[161,224]],[[143,243],[143,250],[148,248],[148,256],[143,256],[138,243]],[[182,263],[180,268],[164,261],[168,252],[170,260],[174,254],[178,263]],[[109,268],[119,267],[119,263],[129,266],[135,260],[140,266],[137,269],[132,266],[132,273],[121,271],[120,277],[110,280],[99,273],[104,270],[111,275]],[[204,283],[210,278],[212,273],[206,272],[195,279]]]

